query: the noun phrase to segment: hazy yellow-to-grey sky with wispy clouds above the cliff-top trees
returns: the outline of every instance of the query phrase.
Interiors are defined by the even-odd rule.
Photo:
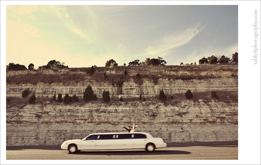
[[[198,64],[238,52],[238,5],[7,5],[6,65]],[[240,52],[238,52],[240,54]]]

